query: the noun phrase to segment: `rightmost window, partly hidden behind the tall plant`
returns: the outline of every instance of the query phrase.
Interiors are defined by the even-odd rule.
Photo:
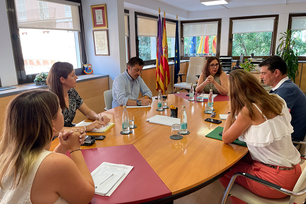
[[[292,30],[293,48],[297,49],[299,60],[306,60],[306,13],[289,14],[289,26]]]

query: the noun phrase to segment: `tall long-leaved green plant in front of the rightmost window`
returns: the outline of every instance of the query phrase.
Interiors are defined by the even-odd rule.
[[[295,83],[295,78],[299,75],[299,61],[297,57],[297,49],[294,47],[294,39],[291,39],[291,29],[287,32],[281,33],[281,38],[278,41],[281,43],[277,47],[277,55],[287,64],[287,75]]]

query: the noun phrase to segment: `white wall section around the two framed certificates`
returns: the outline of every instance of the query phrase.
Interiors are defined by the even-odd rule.
[[[98,4],[106,4],[110,56],[95,56],[90,6]],[[116,76],[126,69],[123,0],[82,0],[82,7],[88,63],[92,65],[95,74],[110,76],[112,88]]]

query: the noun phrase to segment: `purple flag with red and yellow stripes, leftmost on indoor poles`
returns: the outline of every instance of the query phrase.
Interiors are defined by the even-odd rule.
[[[162,49],[162,20],[160,14],[157,27],[157,45],[156,45],[156,91],[165,90],[164,87],[164,69],[163,69],[163,49]]]

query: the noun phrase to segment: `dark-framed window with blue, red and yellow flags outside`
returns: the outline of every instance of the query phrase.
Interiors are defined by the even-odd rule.
[[[182,21],[184,57],[219,56],[221,19]]]

